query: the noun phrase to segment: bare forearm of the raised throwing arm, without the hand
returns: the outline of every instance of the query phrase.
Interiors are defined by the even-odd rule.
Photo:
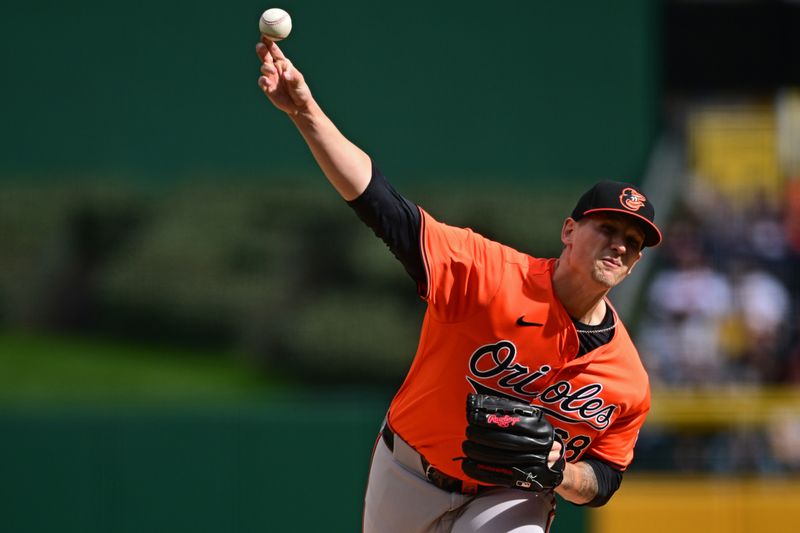
[[[290,117],[342,198],[350,201],[364,192],[372,175],[369,156],[342,135],[316,103]]]

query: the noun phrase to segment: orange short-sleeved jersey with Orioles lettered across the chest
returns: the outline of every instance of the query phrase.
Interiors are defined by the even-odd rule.
[[[553,293],[555,259],[537,259],[422,212],[428,309],[389,424],[433,466],[472,481],[463,456],[469,392],[541,408],[564,440],[624,470],[650,409],[650,387],[614,311],[611,341],[581,357],[572,319]]]

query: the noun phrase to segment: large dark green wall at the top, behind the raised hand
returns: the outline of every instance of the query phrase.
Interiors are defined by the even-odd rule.
[[[655,0],[284,0],[284,49],[395,181],[636,180]],[[256,85],[256,0],[12,2],[0,179],[316,176]]]

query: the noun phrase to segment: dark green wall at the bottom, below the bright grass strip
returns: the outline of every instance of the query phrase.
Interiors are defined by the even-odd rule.
[[[0,530],[356,532],[385,405],[4,410]],[[563,503],[558,531],[583,520]]]

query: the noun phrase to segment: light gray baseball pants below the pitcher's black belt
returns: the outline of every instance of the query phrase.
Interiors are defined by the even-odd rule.
[[[444,491],[425,477],[420,455],[395,435],[380,437],[364,501],[364,533],[546,533],[552,492],[496,488],[478,495]]]

